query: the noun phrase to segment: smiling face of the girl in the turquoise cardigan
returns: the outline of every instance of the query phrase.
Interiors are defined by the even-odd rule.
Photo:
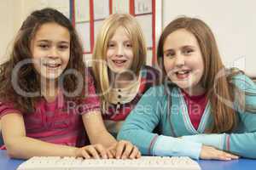
[[[171,81],[190,95],[204,93],[204,64],[195,36],[185,29],[173,31],[166,37],[163,51],[166,74]]]

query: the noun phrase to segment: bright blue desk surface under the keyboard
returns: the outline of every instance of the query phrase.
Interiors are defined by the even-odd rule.
[[[0,170],[15,170],[24,160],[10,159],[6,150],[0,150]],[[202,170],[255,170],[256,160],[198,161]]]

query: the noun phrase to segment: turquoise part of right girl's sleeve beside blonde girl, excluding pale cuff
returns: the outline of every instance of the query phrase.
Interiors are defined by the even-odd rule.
[[[143,155],[153,155],[152,150],[158,134],[152,132],[160,122],[163,96],[161,86],[149,88],[125,119],[117,139],[131,141]]]

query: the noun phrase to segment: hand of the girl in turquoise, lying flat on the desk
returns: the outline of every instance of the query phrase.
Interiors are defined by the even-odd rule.
[[[206,159],[206,160],[214,159],[214,160],[230,161],[232,159],[238,159],[239,156],[235,156],[223,150],[217,150],[212,146],[202,145],[200,158]]]

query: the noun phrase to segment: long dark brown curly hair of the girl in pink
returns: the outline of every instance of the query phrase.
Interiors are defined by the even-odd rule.
[[[27,97],[17,93],[13,86],[12,78],[16,77],[15,81],[18,83],[19,87],[27,93],[39,92],[41,89],[41,83],[38,73],[34,70],[32,63],[22,65],[19,72],[17,74],[15,73],[16,75],[14,74],[15,65],[18,65],[26,59],[32,58],[30,49],[32,38],[35,36],[40,26],[49,22],[56,23],[67,28],[70,34],[70,59],[67,64],[67,68],[62,75],[65,74],[66,71],[73,69],[83,76],[83,82],[85,79],[83,48],[71,21],[68,20],[64,14],[61,14],[54,8],[44,8],[32,12],[32,14],[30,14],[22,23],[22,26],[15,37],[15,42],[9,60],[0,65],[0,99],[2,102],[15,105],[15,108],[19,108],[22,112],[33,111],[36,102],[41,98],[41,96]],[[79,81],[81,81],[73,74],[67,74],[62,78],[62,86],[68,93],[72,93],[76,90],[79,86]],[[84,88],[85,83],[83,83],[83,89]],[[83,97],[84,93],[80,93],[69,99],[78,101]],[[65,96],[65,98],[67,97]]]

